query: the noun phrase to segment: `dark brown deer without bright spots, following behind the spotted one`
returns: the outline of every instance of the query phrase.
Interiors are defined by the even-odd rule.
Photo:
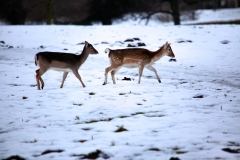
[[[69,72],[72,72],[81,82],[83,87],[86,87],[78,73],[81,65],[86,61],[89,54],[98,54],[98,51],[87,41],[81,54],[76,55],[72,53],[62,52],[39,52],[35,55],[35,65],[39,66],[36,70],[37,89],[44,87],[44,81],[41,76],[48,70],[63,71],[63,79],[60,88],[63,88],[64,81]]]

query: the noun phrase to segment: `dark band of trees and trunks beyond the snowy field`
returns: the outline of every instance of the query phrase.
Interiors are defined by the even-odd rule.
[[[180,15],[186,11],[233,8],[239,3],[240,0],[0,0],[0,20],[13,25],[111,25],[126,14],[130,18],[138,14],[148,22],[153,15],[165,13],[179,25]]]

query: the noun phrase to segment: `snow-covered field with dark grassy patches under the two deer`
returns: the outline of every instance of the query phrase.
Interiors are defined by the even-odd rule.
[[[140,41],[124,42],[128,38]],[[34,56],[99,51],[60,89],[48,71],[37,90]],[[0,26],[0,159],[240,159],[240,26]],[[153,72],[121,69],[103,86],[105,48],[171,43]],[[123,81],[124,77],[131,81]]]

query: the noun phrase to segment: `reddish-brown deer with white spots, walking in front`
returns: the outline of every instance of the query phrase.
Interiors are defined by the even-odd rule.
[[[163,56],[175,58],[170,43],[168,42],[166,42],[157,51],[149,51],[148,49],[144,48],[129,48],[116,50],[106,48],[105,53],[108,53],[111,65],[105,69],[105,81],[103,85],[107,84],[108,72],[111,72],[113,84],[116,84],[115,74],[121,67],[138,68],[138,84],[140,84],[141,82],[141,76],[144,67],[150,71],[153,71],[157,76],[158,82],[161,83],[160,77],[158,76],[158,73],[156,69],[152,66],[152,64]]]

